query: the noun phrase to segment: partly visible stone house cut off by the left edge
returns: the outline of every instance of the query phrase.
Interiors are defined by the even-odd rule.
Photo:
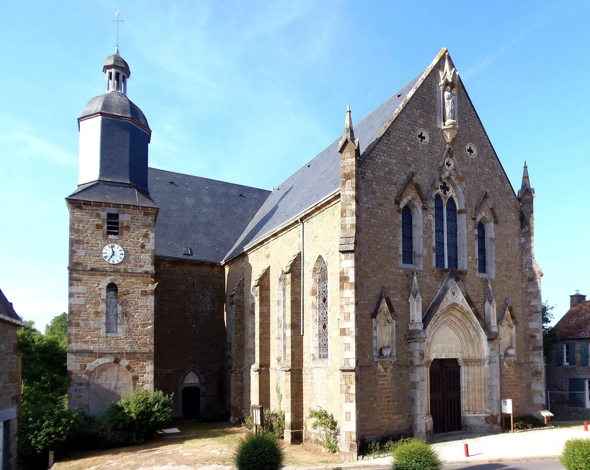
[[[26,326],[0,290],[0,468],[17,468],[17,425],[21,413],[21,360],[17,328]]]

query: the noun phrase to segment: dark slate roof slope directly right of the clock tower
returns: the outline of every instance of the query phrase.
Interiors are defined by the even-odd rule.
[[[148,169],[159,207],[156,256],[219,263],[270,191],[199,176]],[[182,254],[182,246],[192,255]]]

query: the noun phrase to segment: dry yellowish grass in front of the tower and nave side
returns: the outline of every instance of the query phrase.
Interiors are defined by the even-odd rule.
[[[100,451],[70,452],[55,463],[55,470],[136,470],[159,467],[188,470],[199,465],[231,465],[234,448],[247,430],[223,423],[173,422],[169,426],[180,435],[196,437],[153,439],[143,444]],[[178,436],[169,434],[168,436]],[[287,465],[313,466],[340,462],[337,453],[324,452],[319,446],[285,446]]]

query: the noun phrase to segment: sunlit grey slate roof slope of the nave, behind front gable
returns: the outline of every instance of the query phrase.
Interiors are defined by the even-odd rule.
[[[422,73],[354,125],[355,137],[359,139],[361,158],[366,156],[365,152],[368,153],[371,150],[379,131],[392,117],[412,87],[418,83],[421,76]],[[342,136],[275,188],[260,211],[248,224],[244,233],[232,246],[225,260],[240,254],[244,247],[251,242],[270,233],[278,226],[295,218],[299,213],[340,190],[340,154],[337,150],[340,140],[342,140]]]

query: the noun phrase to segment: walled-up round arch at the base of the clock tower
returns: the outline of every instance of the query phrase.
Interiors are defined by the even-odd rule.
[[[131,374],[119,364],[101,364],[94,369],[88,381],[89,413],[97,416],[112,402],[118,402],[124,392],[131,392]]]

